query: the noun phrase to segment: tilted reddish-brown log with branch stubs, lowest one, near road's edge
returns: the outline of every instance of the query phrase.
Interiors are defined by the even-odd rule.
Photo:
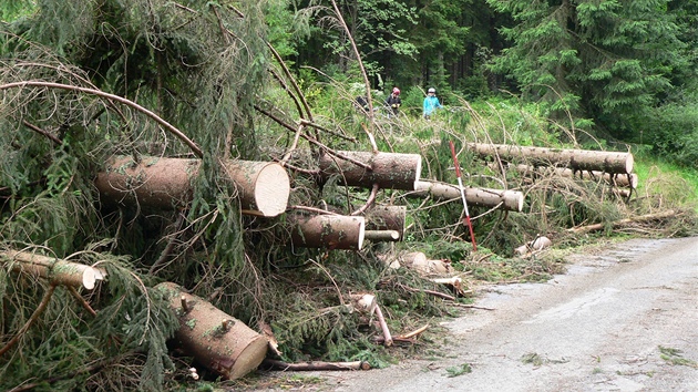
[[[244,376],[266,357],[267,339],[242,321],[175,283],[163,282],[155,288],[179,316],[177,345],[223,379]]]

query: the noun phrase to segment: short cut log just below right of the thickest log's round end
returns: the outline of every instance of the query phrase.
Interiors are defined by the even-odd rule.
[[[362,216],[316,215],[294,217],[291,240],[304,248],[359,250],[363,246],[366,219]]]

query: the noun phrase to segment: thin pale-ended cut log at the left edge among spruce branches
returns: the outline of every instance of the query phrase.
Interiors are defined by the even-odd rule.
[[[103,280],[106,276],[106,272],[99,268],[29,251],[2,250],[0,259],[9,262],[16,272],[31,274],[52,283],[84,287],[88,290],[92,290],[96,281]]]

